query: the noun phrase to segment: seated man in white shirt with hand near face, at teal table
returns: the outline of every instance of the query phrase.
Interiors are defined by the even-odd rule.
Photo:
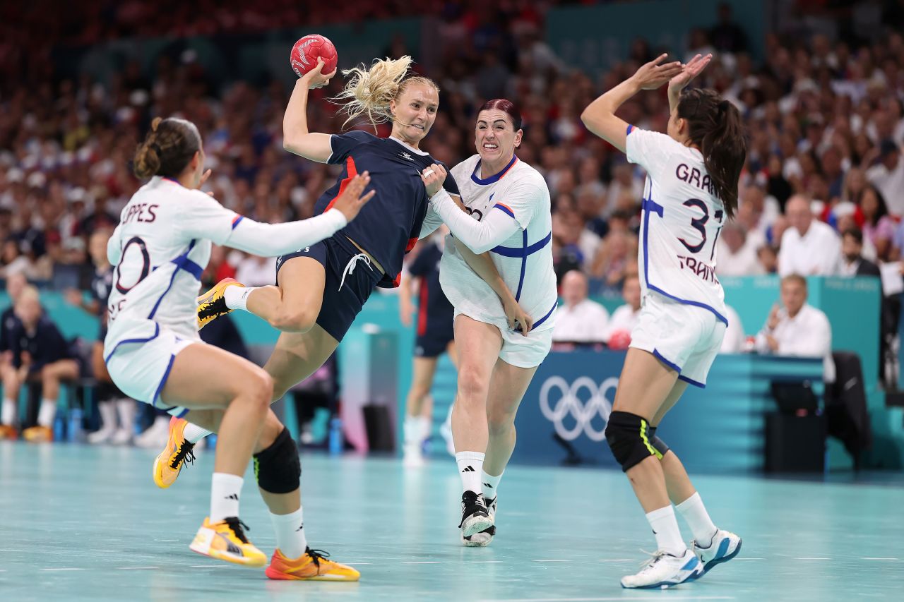
[[[823,380],[835,381],[832,360],[832,326],[829,318],[806,303],[806,279],[799,274],[783,277],[781,306],[769,312],[757,335],[759,353],[823,358]]]

